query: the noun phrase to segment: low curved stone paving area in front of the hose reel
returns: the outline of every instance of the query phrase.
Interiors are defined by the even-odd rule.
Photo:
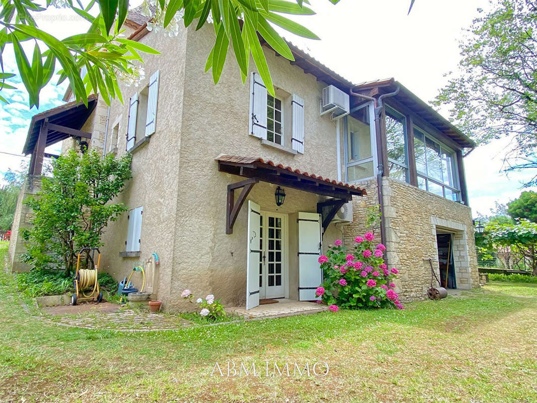
[[[107,306],[107,305],[110,306]],[[170,330],[192,326],[193,323],[179,316],[164,313],[137,312],[110,303],[56,306],[43,310],[49,320],[59,325],[89,329]]]

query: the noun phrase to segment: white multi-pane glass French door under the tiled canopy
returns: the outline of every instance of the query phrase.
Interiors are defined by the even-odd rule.
[[[262,213],[259,218],[259,261],[260,298],[280,298],[285,296],[285,215]]]

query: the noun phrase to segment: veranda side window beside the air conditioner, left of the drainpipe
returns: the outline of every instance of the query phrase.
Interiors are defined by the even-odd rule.
[[[366,104],[342,119],[347,182],[375,176],[376,142],[372,114],[371,104]]]

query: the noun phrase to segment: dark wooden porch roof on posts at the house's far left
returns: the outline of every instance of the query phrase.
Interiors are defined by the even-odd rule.
[[[91,133],[80,129],[96,105],[97,95],[90,95],[87,107],[82,102],[69,102],[32,117],[23,148],[24,155],[32,154],[30,175],[41,175],[44,157],[57,157],[45,153],[46,147],[69,137],[91,139]]]

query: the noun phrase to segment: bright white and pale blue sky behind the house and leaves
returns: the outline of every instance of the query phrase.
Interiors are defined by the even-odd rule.
[[[141,0],[130,2],[132,6]],[[286,34],[304,49],[351,82],[395,77],[426,102],[434,99],[447,82],[444,76],[458,68],[459,40],[477,17],[478,8],[487,10],[488,0],[416,0],[410,15],[410,0],[310,0],[315,16],[294,17],[315,32],[320,41]],[[59,38],[87,28],[67,10],[50,8],[38,20],[39,27]],[[233,62],[228,60],[228,62]],[[12,56],[6,66],[13,66]],[[22,85],[20,84],[20,87]],[[41,92],[39,111],[61,105],[65,86],[49,85]],[[8,93],[8,91],[3,91]],[[0,152],[20,154],[35,109],[28,110],[24,91],[12,91],[11,104],[0,104]],[[447,109],[440,109],[448,116]],[[55,147],[56,149],[58,147]],[[507,203],[520,195],[521,183],[534,172],[502,172],[503,155],[510,139],[480,146],[465,158],[467,187],[474,217],[490,214],[495,202]],[[49,150],[53,152],[54,149]],[[21,157],[0,153],[0,175],[17,169]],[[535,188],[531,190],[537,190]]]

